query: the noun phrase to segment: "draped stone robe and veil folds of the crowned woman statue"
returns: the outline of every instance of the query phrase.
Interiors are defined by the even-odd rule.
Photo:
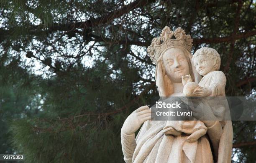
[[[191,61],[192,55],[189,54]],[[161,57],[159,58],[161,60]],[[192,66],[191,73],[196,83],[201,77]],[[163,73],[159,62],[156,66],[156,85],[160,96],[172,96],[172,81]],[[224,87],[225,88],[225,87]],[[212,88],[215,89],[215,88]],[[187,135],[165,135],[166,121],[146,121],[138,135],[121,130],[121,143],[126,163],[230,163],[233,128],[231,121],[220,125],[215,121],[207,126],[207,134],[193,143],[187,143]]]

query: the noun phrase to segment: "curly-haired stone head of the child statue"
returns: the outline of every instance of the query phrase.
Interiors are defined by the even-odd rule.
[[[197,72],[204,76],[220,69],[220,54],[210,47],[198,49],[192,57]]]

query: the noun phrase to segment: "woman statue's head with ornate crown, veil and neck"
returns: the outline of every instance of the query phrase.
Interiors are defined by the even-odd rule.
[[[192,39],[181,27],[172,31],[164,27],[159,37],[148,46],[148,54],[156,64],[156,86],[160,96],[177,93],[173,83],[182,83],[182,76],[191,75],[198,83],[201,76],[195,71],[191,58]]]

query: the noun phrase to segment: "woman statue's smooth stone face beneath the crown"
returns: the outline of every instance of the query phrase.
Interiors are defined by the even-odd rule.
[[[172,82],[182,82],[182,76],[189,74],[189,64],[182,49],[170,48],[163,54],[164,69]]]

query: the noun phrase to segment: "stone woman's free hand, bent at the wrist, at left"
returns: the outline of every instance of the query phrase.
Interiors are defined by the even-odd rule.
[[[141,106],[127,117],[123,123],[121,132],[126,134],[133,134],[141,127],[145,121],[150,119],[151,110],[148,108],[148,106]]]

